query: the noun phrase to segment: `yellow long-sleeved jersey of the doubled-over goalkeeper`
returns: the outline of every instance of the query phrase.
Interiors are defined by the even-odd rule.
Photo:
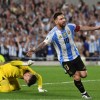
[[[32,70],[29,66],[23,66],[23,61],[11,61],[7,64],[1,65],[0,66],[0,81],[2,78],[9,78],[9,77],[14,77],[14,78],[23,78],[23,74],[25,71],[28,70],[31,72],[33,75],[36,75],[37,81],[38,81],[38,86],[42,87],[42,77],[38,73],[36,73],[34,70]]]

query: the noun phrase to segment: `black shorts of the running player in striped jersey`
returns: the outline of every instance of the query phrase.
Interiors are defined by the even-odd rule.
[[[72,61],[62,62],[62,66],[65,69],[66,73],[68,73],[70,76],[73,76],[76,71],[86,70],[86,66],[84,65],[80,56]]]

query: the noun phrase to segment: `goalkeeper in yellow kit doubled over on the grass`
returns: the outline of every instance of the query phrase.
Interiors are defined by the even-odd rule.
[[[24,79],[28,86],[38,83],[38,91],[46,92],[42,89],[42,76],[32,70],[29,65],[33,61],[11,61],[0,66],[0,92],[11,92],[20,90],[18,78]]]

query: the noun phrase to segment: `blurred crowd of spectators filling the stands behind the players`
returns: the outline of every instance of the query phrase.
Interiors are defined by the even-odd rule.
[[[100,26],[100,2],[89,7],[85,0],[77,6],[65,0],[0,0],[0,54],[6,60],[29,59],[26,52],[44,40],[54,27],[55,11],[62,11],[68,23]],[[81,56],[100,58],[100,30],[78,32],[75,43]],[[31,59],[56,60],[52,45],[33,54]]]

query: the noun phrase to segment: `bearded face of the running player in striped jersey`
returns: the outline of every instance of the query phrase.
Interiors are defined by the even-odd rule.
[[[61,27],[61,28],[64,28],[65,25],[66,25],[66,18],[64,15],[59,15],[55,21],[56,25]]]

